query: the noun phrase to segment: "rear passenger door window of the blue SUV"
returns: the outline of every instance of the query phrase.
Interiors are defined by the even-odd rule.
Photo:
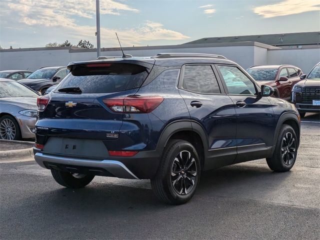
[[[183,88],[198,93],[220,93],[220,88],[210,65],[186,65]]]

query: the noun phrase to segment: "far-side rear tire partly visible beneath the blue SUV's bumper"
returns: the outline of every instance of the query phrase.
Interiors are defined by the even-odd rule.
[[[67,171],[60,171],[51,169],[51,174],[54,180],[62,186],[68,188],[81,188],[89,184],[94,175],[85,175],[85,174],[77,174],[70,173]]]

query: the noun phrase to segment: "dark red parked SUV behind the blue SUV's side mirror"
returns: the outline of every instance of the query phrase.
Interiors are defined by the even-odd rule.
[[[291,90],[303,74],[300,68],[293,65],[251,66],[247,72],[259,83],[272,86],[274,96],[290,100]]]

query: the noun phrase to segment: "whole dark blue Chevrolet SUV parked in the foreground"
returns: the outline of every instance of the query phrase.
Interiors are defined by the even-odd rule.
[[[293,104],[220,55],[161,53],[71,62],[38,98],[35,160],[65,187],[95,175],[151,179],[188,201],[202,170],[266,158],[289,170],[300,138]]]

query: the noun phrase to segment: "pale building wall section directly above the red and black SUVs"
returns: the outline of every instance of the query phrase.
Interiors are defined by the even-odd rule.
[[[267,64],[292,64],[308,73],[320,62],[320,48],[270,49],[267,53]]]

